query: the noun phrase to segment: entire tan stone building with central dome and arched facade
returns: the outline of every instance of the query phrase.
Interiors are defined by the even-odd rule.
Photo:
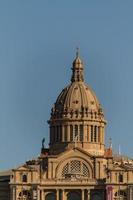
[[[11,200],[133,200],[133,160],[105,148],[106,120],[76,53],[51,109],[49,148],[10,171]]]

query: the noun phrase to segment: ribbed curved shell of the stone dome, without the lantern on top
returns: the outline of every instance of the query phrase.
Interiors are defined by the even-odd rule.
[[[78,113],[100,111],[100,104],[92,92],[84,82],[72,82],[62,90],[55,103],[55,112],[62,113],[66,111]]]

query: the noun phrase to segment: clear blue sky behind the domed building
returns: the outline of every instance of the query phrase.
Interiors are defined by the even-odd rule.
[[[75,47],[108,121],[106,141],[133,157],[133,1],[0,1],[0,169],[40,153],[69,83]]]

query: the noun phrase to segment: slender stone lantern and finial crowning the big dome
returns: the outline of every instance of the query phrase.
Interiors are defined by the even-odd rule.
[[[76,49],[76,58],[73,61],[73,67],[72,67],[72,78],[71,82],[80,82],[84,81],[83,77],[83,63],[79,57],[79,48]]]

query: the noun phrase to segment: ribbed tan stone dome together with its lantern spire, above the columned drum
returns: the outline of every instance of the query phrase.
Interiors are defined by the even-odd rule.
[[[78,117],[89,116],[101,113],[100,104],[94,92],[85,84],[83,79],[83,64],[79,55],[73,62],[71,84],[65,87],[59,94],[52,109],[53,117],[65,117],[68,115],[78,115]]]

